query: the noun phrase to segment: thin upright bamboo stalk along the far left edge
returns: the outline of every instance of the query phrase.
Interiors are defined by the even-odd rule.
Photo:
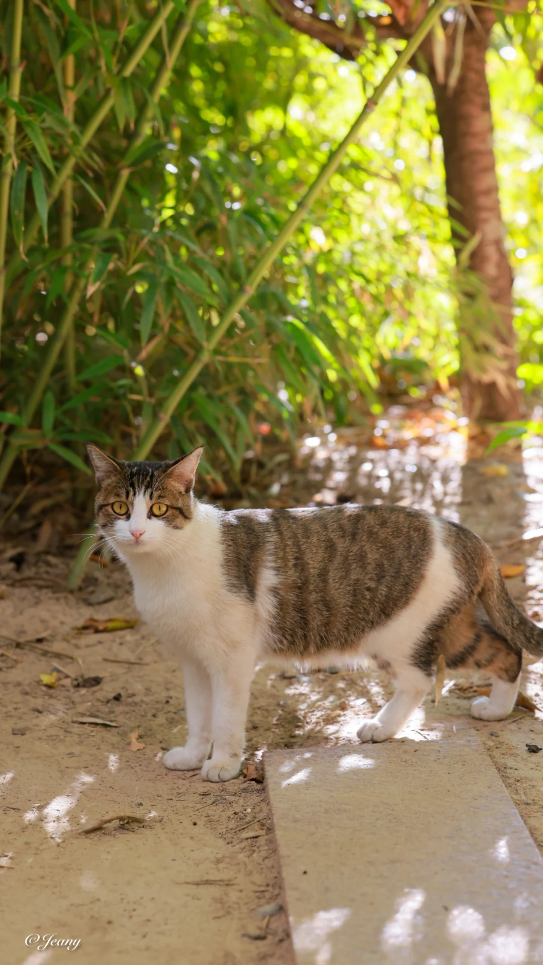
[[[10,51],[10,80],[8,84],[8,94],[14,100],[18,100],[20,92],[20,40],[22,34],[22,13],[23,0],[14,0],[12,48]],[[14,109],[13,107],[9,107],[6,116],[4,161],[2,164],[2,175],[0,178],[0,338],[2,335],[4,295],[6,292],[6,242],[8,239],[8,216],[10,213],[10,187],[14,172],[14,140],[16,123]]]

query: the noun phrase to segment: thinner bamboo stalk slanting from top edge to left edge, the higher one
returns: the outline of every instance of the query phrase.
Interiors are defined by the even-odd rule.
[[[17,2],[22,2],[22,0],[17,0]],[[144,54],[146,53],[146,51],[148,50],[152,42],[157,37],[157,33],[160,30],[162,23],[168,17],[168,15],[171,14],[174,7],[175,7],[175,4],[173,3],[173,0],[167,0],[167,2],[163,5],[163,7],[158,11],[155,18],[149,24],[143,37],[134,47],[132,53],[129,56],[129,60],[125,64],[125,67],[120,71],[119,76],[129,77],[132,70],[134,70],[138,66],[142,57],[144,56]],[[56,178],[54,179],[49,189],[49,196],[47,199],[49,207],[51,207],[53,202],[55,202],[56,199],[58,198],[66,180],[71,177],[71,172],[73,171],[77,158],[85,150],[89,142],[93,139],[98,128],[100,127],[101,122],[104,120],[104,118],[107,116],[107,114],[113,107],[113,102],[114,102],[114,96],[111,91],[102,97],[100,104],[97,107],[95,113],[83,128],[79,143],[71,147],[70,156],[66,158],[64,164],[62,165],[60,171],[58,172]],[[30,246],[36,240],[38,232],[40,231],[40,224],[41,224],[40,216],[36,212],[33,215],[33,217],[30,219],[30,222],[27,228],[25,229],[24,240],[23,240],[24,252],[28,251]],[[21,267],[22,263],[23,263],[23,260],[20,256],[20,253],[15,251],[10,259],[10,262],[6,270],[6,278],[5,278],[6,288],[8,288],[13,282],[14,277],[17,274],[17,271]]]

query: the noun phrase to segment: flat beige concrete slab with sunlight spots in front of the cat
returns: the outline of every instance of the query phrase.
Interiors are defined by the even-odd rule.
[[[477,738],[265,762],[299,965],[543,962],[543,861]]]

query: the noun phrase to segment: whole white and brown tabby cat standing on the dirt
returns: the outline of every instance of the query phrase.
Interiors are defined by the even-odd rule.
[[[167,462],[87,449],[100,535],[183,670],[188,738],[166,767],[237,777],[263,657],[313,666],[372,657],[396,691],[357,736],[383,741],[424,698],[440,654],[451,671],[494,677],[490,697],[472,703],[486,721],[514,706],[522,648],[543,654],[543,630],[514,605],[491,550],[457,523],[399,506],[227,512],[194,495],[201,446]]]

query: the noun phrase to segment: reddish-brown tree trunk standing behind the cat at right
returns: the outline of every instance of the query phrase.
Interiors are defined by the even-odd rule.
[[[521,394],[516,375],[512,273],[503,243],[485,73],[489,33],[490,29],[485,29],[483,36],[483,31],[469,24],[462,72],[452,95],[447,94],[446,84],[437,82],[433,70],[430,80],[443,138],[447,204],[457,260],[470,237],[480,238],[469,259],[478,278],[467,277],[460,291],[462,396],[474,419],[505,421],[520,418]],[[455,228],[455,221],[468,234]]]

